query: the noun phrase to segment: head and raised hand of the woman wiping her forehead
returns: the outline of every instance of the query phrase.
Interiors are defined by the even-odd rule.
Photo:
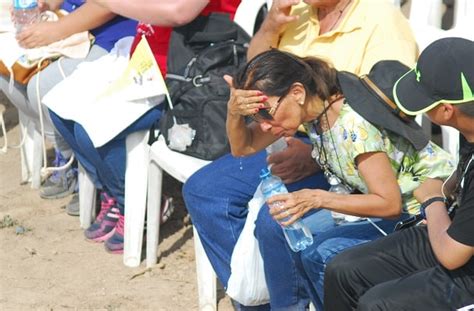
[[[291,137],[300,124],[342,103],[336,70],[317,58],[271,50],[250,61],[235,79],[225,79],[231,87],[227,133],[235,156],[259,151],[281,136]],[[328,116],[334,111],[328,110]],[[242,116],[256,121],[248,131]]]

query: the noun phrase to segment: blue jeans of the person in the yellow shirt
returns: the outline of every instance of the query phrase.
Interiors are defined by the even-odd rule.
[[[235,158],[225,155],[193,174],[183,197],[204,249],[224,287],[230,277],[232,251],[247,217],[247,204],[266,167],[266,153]],[[327,188],[323,174],[287,185],[288,190]],[[298,276],[281,227],[264,206],[256,220],[255,236],[264,261],[272,310],[303,310],[308,296]],[[262,310],[268,306],[262,306]]]

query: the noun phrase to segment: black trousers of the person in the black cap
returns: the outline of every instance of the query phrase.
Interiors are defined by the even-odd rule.
[[[413,227],[336,256],[328,265],[324,309],[456,310],[474,304],[474,272],[443,268],[426,227]],[[473,306],[474,309],[474,306]]]

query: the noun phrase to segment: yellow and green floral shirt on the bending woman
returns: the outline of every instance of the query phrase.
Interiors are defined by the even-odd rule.
[[[321,135],[315,134],[313,123],[306,123],[305,127],[310,133],[316,159],[326,161],[333,174],[362,193],[368,193],[368,189],[357,170],[357,156],[385,152],[397,175],[403,209],[410,214],[419,212],[413,191],[426,178],[446,179],[455,168],[451,155],[436,144],[429,142],[416,151],[406,139],[372,125],[348,104],[343,105],[331,129]],[[321,152],[321,141],[325,152]]]

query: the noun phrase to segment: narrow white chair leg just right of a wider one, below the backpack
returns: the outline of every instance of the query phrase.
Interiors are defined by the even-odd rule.
[[[150,165],[148,167],[146,231],[146,266],[148,268],[156,264],[158,257],[162,183],[163,170],[156,162],[153,161],[152,155],[150,155]]]

